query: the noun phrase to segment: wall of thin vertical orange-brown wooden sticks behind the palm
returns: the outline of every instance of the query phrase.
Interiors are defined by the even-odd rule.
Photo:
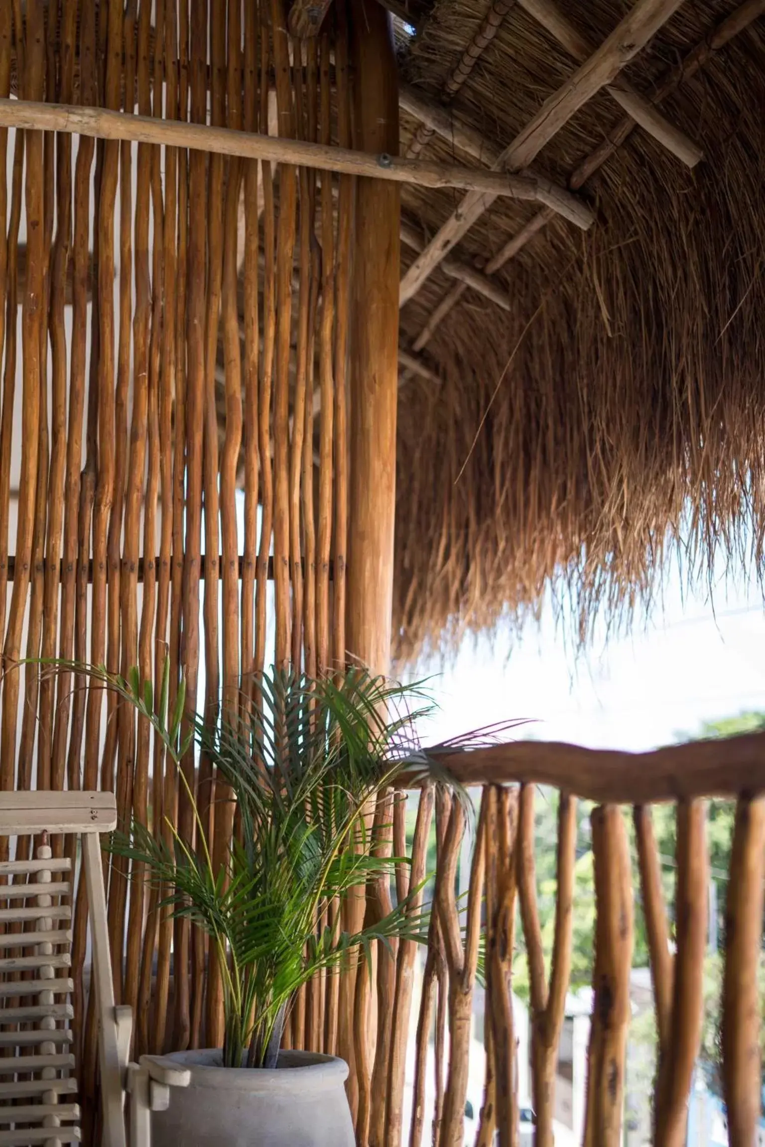
[[[19,3],[2,5],[0,95],[10,93],[15,56],[26,99],[349,146],[349,30],[336,7],[321,41],[300,44],[288,36],[284,0],[31,0],[23,18]],[[86,693],[81,674],[46,677],[17,662],[23,653],[123,673],[138,665],[158,693],[169,656],[171,703],[186,679],[186,727],[196,708],[213,720],[220,705],[235,719],[240,690],[251,695],[253,674],[272,664],[311,673],[344,664],[354,184],[3,128],[3,163],[9,148],[0,786],[114,788],[124,820],[166,835],[169,818],[192,846],[195,793],[223,864],[234,810],[208,762],[190,750],[179,786],[150,728],[114,697]],[[398,265],[389,278],[398,282]],[[395,401],[395,360],[388,389]],[[393,434],[389,419],[389,462]],[[391,557],[389,546],[389,577]],[[125,860],[104,864],[115,988],[135,1008],[135,1052],[219,1043],[219,977],[204,938],[159,910],[140,873],[128,883]],[[96,1076],[86,923],[78,894],[75,1029],[87,1105]],[[320,993],[321,1032],[303,1031],[299,1043],[334,1047],[337,982]]]

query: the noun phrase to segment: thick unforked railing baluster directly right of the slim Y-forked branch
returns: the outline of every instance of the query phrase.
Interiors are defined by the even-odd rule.
[[[593,810],[592,844],[598,920],[584,1145],[618,1147],[633,923],[630,849],[619,807],[607,804]]]

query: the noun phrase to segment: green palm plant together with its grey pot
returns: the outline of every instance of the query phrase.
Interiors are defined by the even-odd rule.
[[[194,844],[172,824],[162,833],[138,821],[110,844],[132,872],[163,890],[177,915],[208,935],[221,972],[224,1045],[165,1056],[189,1069],[190,1084],[154,1115],[155,1145],[351,1147],[345,1063],[279,1048],[290,1007],[313,976],[368,959],[376,943],[426,937],[427,922],[411,903],[416,889],[353,934],[343,931],[342,912],[325,910],[370,881],[390,880],[393,866],[407,860],[376,846],[370,809],[403,771],[437,772],[414,736],[427,697],[416,686],[361,670],[320,680],[274,672],[258,679],[257,702],[243,702],[235,721],[200,718],[181,738],[184,690],[167,718],[167,671],[156,709],[136,671],[127,680],[96,676],[151,723],[177,765],[195,742],[231,786],[236,810],[226,860],[216,871],[179,767]]]

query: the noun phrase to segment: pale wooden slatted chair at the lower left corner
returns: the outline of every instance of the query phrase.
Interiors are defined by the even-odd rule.
[[[81,879],[91,919],[91,990],[99,1020],[102,1144],[125,1147],[123,1100],[132,1020],[130,1008],[115,1007],[99,841],[100,833],[116,825],[112,793],[0,793],[0,836],[34,835],[42,841],[34,858],[0,863],[0,877],[6,881],[0,884],[0,952],[24,952],[0,955],[0,1147],[80,1141],[79,1107],[70,1101],[78,1090],[68,1023],[73,1015],[69,1000],[73,983],[68,974],[71,863],[53,857],[48,833],[81,840]],[[29,978],[18,978],[19,973]]]

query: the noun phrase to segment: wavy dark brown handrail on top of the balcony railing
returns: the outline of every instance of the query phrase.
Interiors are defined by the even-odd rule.
[[[463,785],[553,785],[600,804],[765,793],[765,733],[669,744],[651,752],[554,741],[427,751]]]

